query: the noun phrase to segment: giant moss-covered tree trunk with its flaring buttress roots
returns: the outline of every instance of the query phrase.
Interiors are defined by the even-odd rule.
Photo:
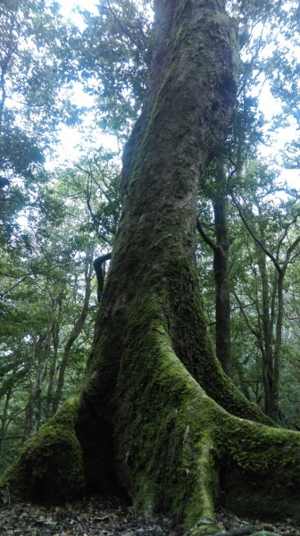
[[[239,512],[296,513],[300,438],[262,425],[270,419],[222,372],[198,289],[198,180],[234,103],[235,28],[221,0],[157,0],[155,12],[151,85],[124,153],[124,208],[87,381],[2,485],[53,501],[84,485],[122,486],[142,514],[202,533],[213,530],[220,489]]]

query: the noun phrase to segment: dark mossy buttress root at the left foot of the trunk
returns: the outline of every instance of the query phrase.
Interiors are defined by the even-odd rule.
[[[60,504],[84,490],[82,452],[74,433],[79,398],[71,398],[21,448],[17,462],[0,479],[11,498]]]

